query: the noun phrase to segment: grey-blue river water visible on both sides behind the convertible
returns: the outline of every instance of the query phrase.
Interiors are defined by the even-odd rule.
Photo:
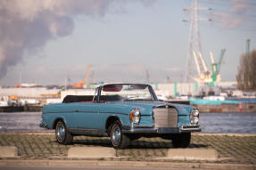
[[[0,132],[42,132],[41,112],[0,113]],[[256,134],[256,113],[201,113],[203,133]]]

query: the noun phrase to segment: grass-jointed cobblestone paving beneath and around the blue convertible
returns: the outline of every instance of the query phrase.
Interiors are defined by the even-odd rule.
[[[16,146],[18,158],[12,159],[72,159],[67,158],[67,152],[74,146],[104,146],[110,147],[109,138],[79,136],[74,138],[73,145],[60,145],[56,142],[53,133],[45,134],[0,134],[0,146]],[[116,150],[117,158],[101,158],[95,160],[137,160],[137,161],[162,161],[161,157],[167,155],[171,149],[170,141],[161,138],[141,138],[131,143],[127,150]],[[213,149],[219,152],[219,160],[214,163],[225,164],[252,164],[256,165],[256,135],[217,135],[193,134],[190,149]],[[0,158],[9,159],[9,158]],[[207,163],[203,160],[186,160],[191,163]]]

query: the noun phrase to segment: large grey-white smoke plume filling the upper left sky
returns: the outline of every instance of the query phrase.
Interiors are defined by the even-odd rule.
[[[1,0],[0,78],[8,67],[22,61],[25,52],[35,51],[54,38],[69,36],[78,15],[102,17],[112,3],[127,0]],[[141,0],[145,6],[152,0]]]

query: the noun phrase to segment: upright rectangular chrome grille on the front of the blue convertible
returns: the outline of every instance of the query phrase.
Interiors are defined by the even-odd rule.
[[[155,127],[177,127],[178,111],[174,108],[153,109]]]

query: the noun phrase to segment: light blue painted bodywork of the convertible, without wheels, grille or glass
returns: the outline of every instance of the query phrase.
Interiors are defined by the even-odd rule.
[[[153,126],[153,109],[160,105],[171,105],[178,109],[178,126],[190,125],[189,114],[194,107],[170,104],[163,101],[108,101],[100,103],[55,103],[45,105],[43,122],[47,128],[54,128],[54,121],[62,118],[67,128],[106,130],[108,117],[118,117],[124,126],[130,126],[129,113],[140,109],[141,119],[137,126]]]

